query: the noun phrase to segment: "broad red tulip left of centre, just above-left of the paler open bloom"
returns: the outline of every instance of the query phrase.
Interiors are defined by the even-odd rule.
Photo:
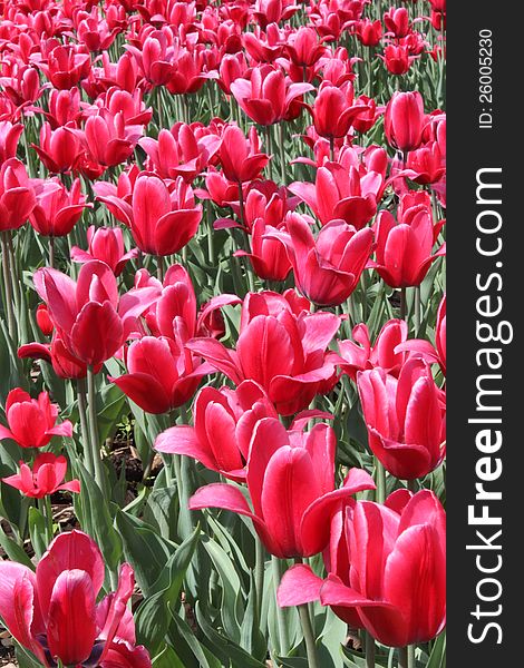
[[[129,373],[109,380],[146,413],[166,413],[185,404],[202,377],[213,371],[184,350],[184,332],[177,340],[144,336],[126,350]]]

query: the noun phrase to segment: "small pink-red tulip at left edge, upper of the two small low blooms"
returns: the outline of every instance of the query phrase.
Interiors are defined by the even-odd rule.
[[[11,390],[6,400],[8,428],[0,424],[0,441],[11,439],[20,448],[43,448],[54,436],[72,436],[72,424],[65,420],[57,424],[58,405],[52,404],[47,392],[38,399],[20,387]]]

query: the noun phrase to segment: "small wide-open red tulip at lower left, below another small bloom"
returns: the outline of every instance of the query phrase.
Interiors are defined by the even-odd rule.
[[[79,494],[80,483],[78,480],[64,482],[66,472],[67,460],[65,456],[56,456],[52,452],[42,452],[35,459],[32,470],[21,461],[19,473],[2,478],[2,481],[32,499],[42,499],[58,491]]]

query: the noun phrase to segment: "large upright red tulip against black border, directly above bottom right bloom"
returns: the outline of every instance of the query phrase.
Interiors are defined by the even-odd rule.
[[[414,480],[436,469],[446,452],[443,392],[423,360],[411,357],[398,379],[361,371],[357,385],[369,446],[396,478]]]

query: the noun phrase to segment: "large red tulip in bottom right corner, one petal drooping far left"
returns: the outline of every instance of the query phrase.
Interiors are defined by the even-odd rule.
[[[294,566],[281,607],[319,600],[379,642],[427,642],[446,621],[446,515],[436,495],[398,490],[384,505],[357,501],[331,525],[326,580]],[[357,618],[357,620],[356,620]]]

